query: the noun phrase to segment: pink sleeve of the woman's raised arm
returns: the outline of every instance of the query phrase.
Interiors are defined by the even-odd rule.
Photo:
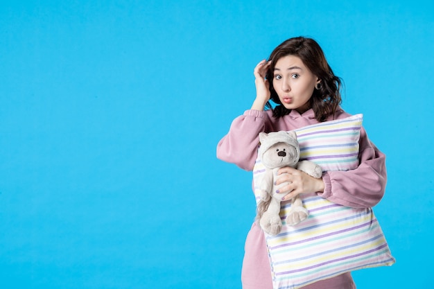
[[[253,170],[257,158],[259,132],[266,127],[266,112],[247,110],[232,121],[229,132],[218,142],[217,157],[236,164],[244,170]]]

